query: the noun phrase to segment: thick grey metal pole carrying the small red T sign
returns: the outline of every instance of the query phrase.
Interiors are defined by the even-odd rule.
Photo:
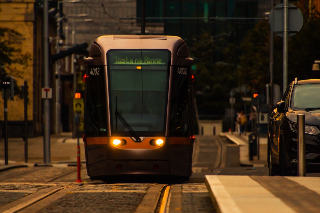
[[[48,51],[48,0],[44,0],[44,87],[49,88],[49,51]],[[50,105],[49,99],[44,98],[44,163],[50,163]]]

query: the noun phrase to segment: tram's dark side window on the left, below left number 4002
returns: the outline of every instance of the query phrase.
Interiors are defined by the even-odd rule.
[[[94,70],[94,72],[92,72]],[[106,87],[103,66],[89,66],[86,80],[85,132],[107,135]]]

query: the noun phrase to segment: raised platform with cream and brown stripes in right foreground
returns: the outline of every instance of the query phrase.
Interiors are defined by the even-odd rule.
[[[206,175],[221,213],[320,212],[320,177]]]

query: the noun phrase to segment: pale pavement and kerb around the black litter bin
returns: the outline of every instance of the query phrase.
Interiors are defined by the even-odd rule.
[[[254,167],[268,166],[268,139],[264,137],[259,138],[259,153],[257,153],[257,156],[253,156],[253,160],[249,160],[249,134],[250,133],[239,135],[239,133],[236,132],[224,132],[221,133],[220,136],[227,137],[239,146],[240,165]]]

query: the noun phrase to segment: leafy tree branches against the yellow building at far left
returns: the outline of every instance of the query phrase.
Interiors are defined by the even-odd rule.
[[[28,62],[31,59],[29,53],[22,53],[20,48],[15,47],[11,41],[17,41],[22,37],[22,34],[9,28],[0,27],[0,64],[3,64],[5,68],[0,70],[0,79],[4,79],[8,73],[14,77],[23,78],[20,70],[13,66],[14,64],[22,65],[23,68],[28,67]],[[10,39],[8,39],[10,38]],[[8,70],[8,72],[6,71]],[[15,95],[22,98],[22,91],[20,87],[15,85]]]

